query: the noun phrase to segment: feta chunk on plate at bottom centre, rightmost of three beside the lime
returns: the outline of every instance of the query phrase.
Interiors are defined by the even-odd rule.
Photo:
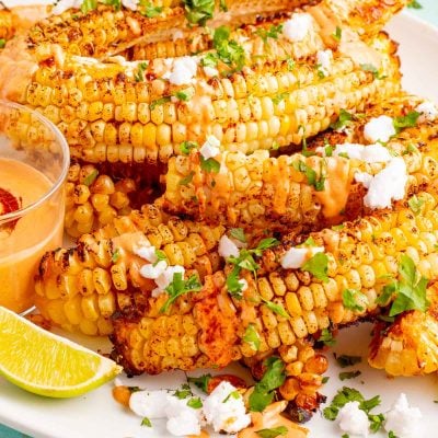
[[[215,431],[235,434],[251,423],[243,397],[235,391],[231,383],[222,381],[204,401],[204,415]]]

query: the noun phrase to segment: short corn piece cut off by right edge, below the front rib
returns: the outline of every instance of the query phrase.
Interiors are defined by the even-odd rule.
[[[438,370],[437,284],[429,287],[427,312],[412,310],[373,330],[368,362],[390,376],[418,376]]]

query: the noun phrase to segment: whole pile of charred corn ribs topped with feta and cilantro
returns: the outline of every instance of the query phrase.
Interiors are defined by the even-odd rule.
[[[78,243],[43,257],[39,312],[110,335],[130,374],[242,360],[260,378],[278,356],[301,410],[321,341],[357,321],[396,315],[371,366],[436,371],[438,111],[402,91],[382,32],[406,1],[113,3],[0,11],[0,97],[73,161]],[[9,128],[31,143],[32,120]],[[407,268],[420,303],[396,311]]]

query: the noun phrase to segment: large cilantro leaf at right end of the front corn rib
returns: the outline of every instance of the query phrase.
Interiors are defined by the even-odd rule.
[[[378,304],[385,304],[395,297],[390,309],[390,316],[395,316],[406,310],[425,312],[429,307],[426,297],[427,284],[427,278],[419,277],[414,261],[403,254],[400,257],[399,279],[384,286],[383,293],[376,301]]]

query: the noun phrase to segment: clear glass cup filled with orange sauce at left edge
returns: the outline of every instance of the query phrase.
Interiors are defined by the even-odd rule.
[[[46,251],[62,244],[69,149],[36,111],[0,100],[0,306],[34,303],[34,276]]]

